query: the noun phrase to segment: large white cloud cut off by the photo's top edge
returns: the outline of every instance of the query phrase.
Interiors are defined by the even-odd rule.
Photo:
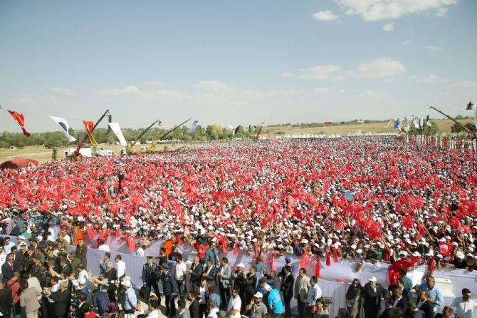
[[[359,15],[363,21],[397,19],[407,14],[446,9],[457,0],[335,0],[347,15]]]

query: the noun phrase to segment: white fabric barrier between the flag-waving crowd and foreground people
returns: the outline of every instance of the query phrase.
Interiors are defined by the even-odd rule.
[[[5,237],[6,235],[0,235]],[[11,237],[12,242],[16,242],[16,237]],[[88,240],[87,240],[88,241]],[[116,255],[121,255],[122,260],[126,264],[126,275],[131,277],[132,284],[135,287],[139,288],[142,286],[142,265],[145,264],[146,257],[140,257],[137,255],[131,255],[130,250],[125,244],[125,242],[120,243],[120,240],[116,238],[114,242],[116,245],[116,252],[111,252],[111,260],[114,264],[114,258]],[[162,242],[154,242],[150,248],[145,250],[145,255],[152,255],[157,257],[159,255],[159,248],[162,246]],[[70,250],[75,250],[74,246],[70,247]],[[156,252],[157,251],[157,252]],[[179,252],[184,257],[184,260],[190,260],[194,255],[196,255],[195,250],[189,244],[184,244],[179,246]],[[100,268],[98,266],[98,260],[103,260],[105,252],[97,250],[95,248],[88,247],[87,260],[88,260],[88,270],[91,270],[93,274],[98,275]],[[295,272],[293,273],[296,277],[298,275],[298,267],[300,266],[300,257],[295,255],[288,255],[292,258],[292,265],[295,266]],[[242,262],[245,265],[246,270],[251,266],[255,265],[253,252],[238,252],[237,255],[234,255],[233,252],[229,251],[226,254],[219,251],[219,257],[227,257],[229,259],[229,265],[234,267],[239,262]],[[264,257],[266,258],[266,257]],[[307,275],[309,277],[313,276],[313,270],[311,269],[310,260],[307,268]],[[186,262],[188,267],[190,266],[190,261]],[[174,262],[169,262],[169,265],[173,265]],[[269,262],[267,261],[267,265]],[[285,257],[276,257],[273,260],[273,269],[280,271],[281,268],[285,265]],[[325,260],[320,261],[320,279],[318,279],[318,285],[322,289],[323,297],[332,297],[333,304],[330,307],[330,317],[334,317],[338,309],[345,307],[345,295],[348,287],[350,286],[349,282],[354,278],[359,278],[362,284],[365,284],[367,280],[374,276],[377,277],[377,281],[382,284],[384,287],[387,287],[387,267],[388,264],[379,263],[378,266],[374,266],[371,263],[367,264],[362,268],[360,272],[355,272],[355,262],[352,261],[342,261],[342,262],[331,262],[330,267],[325,265]],[[421,279],[426,275],[426,270],[422,267],[416,268],[408,272],[408,276],[412,278],[414,284],[421,282]],[[454,300],[455,297],[461,295],[461,289],[466,287],[471,290],[475,289],[477,286],[477,273],[468,272],[464,270],[436,270],[434,275],[436,277],[436,286],[439,287],[444,293],[444,305],[449,305]],[[337,280],[340,279],[340,282]],[[449,286],[446,286],[444,280],[449,281]],[[298,314],[298,309],[295,307],[295,299],[292,299],[291,302],[292,311]],[[384,308],[384,304],[382,306]],[[439,311],[441,308],[439,308]],[[477,314],[477,313],[476,313]],[[477,317],[474,317],[477,318]]]

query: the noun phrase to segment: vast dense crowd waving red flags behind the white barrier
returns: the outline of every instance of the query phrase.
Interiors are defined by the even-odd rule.
[[[413,257],[413,266],[425,265],[429,274],[444,267],[475,270],[476,161],[472,152],[405,143],[398,138],[226,143],[173,153],[83,158],[3,170],[0,216],[4,234],[26,241],[16,246],[16,253],[30,256],[25,257],[21,271],[10,269],[17,273],[27,270],[31,274],[32,268],[40,267],[41,275],[57,277],[75,259],[79,260],[78,268],[83,266],[80,272],[88,272],[84,240],[92,242],[89,248],[108,251],[112,238],[123,237],[138,255],[162,241],[164,255],[176,255],[174,261],[179,258],[177,246],[189,242],[197,250],[197,262],[203,269],[199,277],[205,277],[207,292],[215,281],[222,305],[229,304],[230,298],[236,299],[237,306],[241,299],[240,310],[228,310],[233,316],[236,311],[263,307],[253,303],[259,299],[254,297],[259,296],[258,292],[265,306],[271,297],[251,286],[240,289],[241,279],[235,274],[231,274],[229,283],[221,278],[224,259],[220,257],[229,250],[256,254],[257,268],[242,276],[253,276],[251,272],[273,275],[276,269],[270,268],[268,255],[332,255],[355,260],[356,271]],[[33,219],[38,222],[31,222]],[[13,222],[7,227],[9,221]],[[0,262],[5,265],[15,249],[11,242],[4,243]],[[66,252],[68,245],[80,249],[77,247],[71,256]],[[51,253],[65,259],[47,262]],[[35,256],[41,265],[33,267]],[[268,269],[261,260],[268,262]],[[112,280],[116,282],[116,295],[124,297],[122,294],[132,286],[124,279],[127,272],[120,262],[108,266],[122,274]],[[158,264],[154,275],[157,279],[165,277],[165,281],[169,268],[164,265],[169,265]],[[234,267],[240,274],[241,267]],[[219,278],[209,277],[214,269],[219,271]],[[301,272],[298,268],[289,270],[285,277]],[[192,274],[186,270],[184,275]],[[28,281],[23,274],[20,276],[19,282]],[[318,275],[310,276],[311,281]],[[275,277],[278,293],[273,294],[283,302],[285,316],[290,314],[287,304],[293,297],[298,296],[298,308],[303,305],[304,312],[311,307],[306,305],[303,292],[293,292],[293,283],[290,287],[287,279],[277,273]],[[80,287],[81,278],[66,277],[66,289],[73,290],[76,280]],[[38,280],[41,287],[46,286]],[[172,280],[176,282],[175,277]],[[201,280],[195,279],[194,286],[199,287],[196,297],[201,294]],[[157,288],[155,282],[146,283]],[[231,284],[226,289],[230,296],[222,294],[223,284]],[[256,279],[253,284],[260,286],[261,282]],[[286,291],[283,284],[288,286]],[[181,283],[175,285],[179,300],[193,298],[194,294],[187,294]],[[121,286],[126,293],[117,293]],[[112,299],[108,290],[105,293]],[[167,299],[167,293],[163,293]],[[232,297],[234,293],[239,299]],[[42,297],[47,294],[43,292]],[[159,289],[155,294],[160,298]],[[175,309],[176,302],[170,299],[174,297],[169,297],[167,314],[172,314],[172,304]],[[159,299],[151,302],[154,307]],[[246,309],[250,304],[251,309]],[[209,307],[203,298],[200,305]],[[132,305],[125,307],[135,309]],[[179,302],[177,307],[181,309]],[[313,307],[318,306],[314,303]]]

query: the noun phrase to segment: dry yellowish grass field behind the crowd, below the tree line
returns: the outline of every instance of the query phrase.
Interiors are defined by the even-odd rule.
[[[442,134],[449,134],[451,133],[451,127],[454,125],[452,120],[432,120],[436,125],[439,127],[439,131]],[[466,123],[473,123],[472,119],[463,119],[458,120],[459,123],[466,124]],[[300,127],[293,127],[291,125],[288,126],[276,126],[276,127],[263,127],[262,134],[266,137],[273,137],[275,135],[299,135],[299,134],[318,134],[318,133],[325,133],[325,134],[336,134],[340,133],[341,135],[347,135],[348,133],[356,133],[358,130],[361,130],[361,133],[392,133],[396,130],[389,125],[389,127],[385,127],[387,123],[362,123],[362,124],[355,124],[355,125],[331,125],[325,127],[317,127],[317,128],[300,128]],[[156,145],[154,148],[156,150],[174,150],[177,148],[184,147],[184,143],[170,143],[167,145]],[[135,151],[139,152],[140,148],[144,147],[144,145],[135,145]],[[121,145],[105,145],[101,144],[98,145],[99,149],[104,150],[112,150],[113,153],[119,153],[120,149],[124,148]],[[25,148],[15,148],[15,149],[0,149],[0,163],[3,163],[6,160],[10,160],[11,158],[15,157],[23,157],[23,158],[32,158],[38,160],[39,163],[46,163],[51,160],[53,150],[45,148],[41,145],[30,146]],[[63,148],[58,148],[58,160],[63,160]]]

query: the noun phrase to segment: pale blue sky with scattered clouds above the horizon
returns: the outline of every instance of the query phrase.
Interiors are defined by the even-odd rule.
[[[476,31],[475,0],[2,0],[0,130],[471,115]]]

